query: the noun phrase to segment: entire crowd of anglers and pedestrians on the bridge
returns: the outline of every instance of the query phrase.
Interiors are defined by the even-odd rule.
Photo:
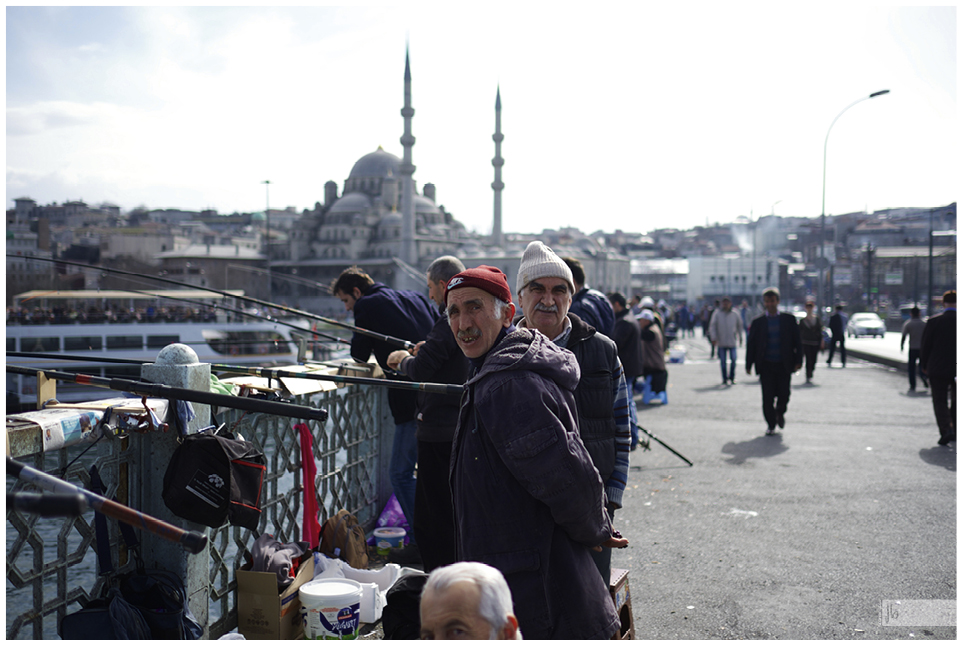
[[[358,267],[331,285],[358,327],[417,342],[395,349],[359,331],[355,359],[374,354],[395,378],[465,386],[460,398],[389,390],[389,473],[412,524],[412,544],[389,560],[414,556],[429,573],[422,638],[616,637],[608,584],[612,549],[629,543],[615,521],[639,443],[634,394],[640,381],[664,390],[667,324],[684,336],[694,315],[648,297],[606,296],[587,286],[578,260],[540,241],[526,248],[514,290],[498,268],[465,268],[451,256],[435,260],[425,280],[427,298]],[[745,341],[769,435],[785,427],[792,374],[805,362],[811,381],[824,347],[815,305],[797,321],[779,301],[769,288],[759,315],[728,298],[700,315],[723,384],[735,383]],[[952,396],[937,414],[941,432],[955,421],[955,380],[936,370],[933,350],[954,326],[946,316],[927,325],[916,348],[924,367],[936,364],[927,376],[934,385],[940,378],[944,401]]]

